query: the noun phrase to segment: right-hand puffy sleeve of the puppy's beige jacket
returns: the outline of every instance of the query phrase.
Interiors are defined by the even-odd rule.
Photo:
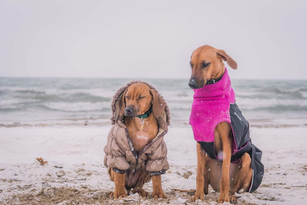
[[[148,155],[146,171],[149,171],[152,176],[165,174],[165,171],[169,169],[169,163],[166,156],[167,147],[164,140],[162,140],[157,148],[153,149]]]

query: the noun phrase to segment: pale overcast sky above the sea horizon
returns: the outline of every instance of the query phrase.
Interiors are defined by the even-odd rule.
[[[0,76],[189,78],[208,44],[231,78],[307,79],[306,2],[2,0]]]

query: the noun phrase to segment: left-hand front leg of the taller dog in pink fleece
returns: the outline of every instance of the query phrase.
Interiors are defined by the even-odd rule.
[[[204,183],[205,183],[205,158],[206,152],[201,148],[199,143],[196,143],[197,152],[197,175],[196,175],[196,192],[192,202],[200,199],[204,200]]]

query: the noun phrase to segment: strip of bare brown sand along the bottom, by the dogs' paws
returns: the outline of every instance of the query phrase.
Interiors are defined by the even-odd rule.
[[[29,193],[20,193],[12,195],[10,199],[7,199],[5,204],[33,204],[33,205],[77,205],[77,204],[138,204],[138,205],[153,205],[153,204],[216,204],[219,198],[218,192],[210,192],[205,195],[204,201],[196,201],[192,203],[192,196],[195,190],[189,190],[187,193],[173,191],[165,192],[167,199],[148,199],[141,196],[130,195],[126,198],[113,199],[109,198],[110,191],[108,190],[92,190],[89,188],[68,188],[68,187],[48,187],[43,188],[41,191],[35,193],[30,191]],[[183,202],[183,203],[182,203]],[[255,203],[240,203],[242,205],[256,205]]]

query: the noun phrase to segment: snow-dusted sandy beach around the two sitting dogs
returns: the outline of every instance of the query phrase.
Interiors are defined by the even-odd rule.
[[[191,128],[170,127],[165,136],[170,169],[162,175],[168,199],[153,201],[137,195],[108,199],[114,183],[103,165],[103,147],[110,126],[49,126],[0,128],[0,204],[181,204],[191,195],[172,188],[196,188],[196,142]],[[243,204],[306,204],[307,128],[251,128],[252,142],[263,151],[262,185],[243,193]],[[37,157],[48,164],[41,166]],[[64,175],[63,175],[64,174]],[[61,176],[62,175],[62,176]],[[152,184],[145,186],[152,191]],[[210,189],[205,201],[216,204]]]

